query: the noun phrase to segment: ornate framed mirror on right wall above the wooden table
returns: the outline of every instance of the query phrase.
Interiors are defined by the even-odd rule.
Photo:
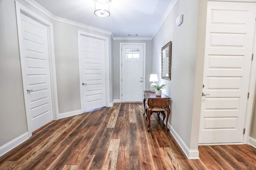
[[[171,80],[172,41],[164,45],[161,51],[161,77]]]

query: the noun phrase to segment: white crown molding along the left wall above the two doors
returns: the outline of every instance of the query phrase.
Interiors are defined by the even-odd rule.
[[[63,22],[63,23],[68,23],[68,24],[71,24],[71,25],[75,25],[75,26],[78,26],[78,27],[90,29],[90,30],[93,30],[93,31],[98,31],[100,33],[105,33],[105,34],[108,34],[108,35],[112,36],[112,32],[110,32],[110,31],[106,31],[104,29],[92,27],[90,25],[86,25],[86,24],[83,24],[83,23],[79,23],[79,22],[75,22],[75,21],[71,21],[71,20],[67,20],[67,19],[64,19],[64,18],[54,16],[52,13],[50,13],[44,7],[42,7],[38,3],[36,3],[34,0],[24,0],[24,1],[27,2],[28,4],[30,4],[31,6],[33,6],[34,8],[36,8],[37,10],[39,10],[40,12],[42,12],[43,14],[45,14],[46,16],[48,16],[49,18],[51,18],[52,20],[60,21],[60,22]]]

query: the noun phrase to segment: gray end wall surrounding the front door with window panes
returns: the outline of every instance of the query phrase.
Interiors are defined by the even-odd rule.
[[[146,89],[150,90],[149,77],[152,61],[152,40],[114,40],[113,42],[113,64],[114,64],[114,99],[120,99],[120,43],[146,43]]]

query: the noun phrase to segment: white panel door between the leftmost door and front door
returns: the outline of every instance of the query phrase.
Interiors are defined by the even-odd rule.
[[[106,106],[105,42],[80,35],[84,111]]]

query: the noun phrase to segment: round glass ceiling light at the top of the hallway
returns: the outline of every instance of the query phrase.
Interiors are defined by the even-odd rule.
[[[110,12],[109,12],[110,1],[111,0],[94,0],[94,3],[95,3],[94,14],[102,18],[110,16]]]

